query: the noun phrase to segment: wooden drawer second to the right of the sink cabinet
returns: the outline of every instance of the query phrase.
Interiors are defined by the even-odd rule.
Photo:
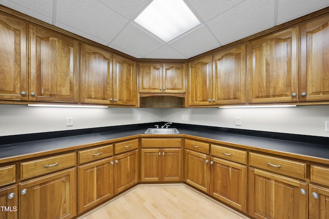
[[[227,148],[219,145],[210,145],[212,156],[224,158],[229,161],[247,164],[247,152],[233,148]]]

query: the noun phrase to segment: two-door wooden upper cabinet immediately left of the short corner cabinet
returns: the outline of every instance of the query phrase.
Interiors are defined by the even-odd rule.
[[[136,62],[81,44],[81,103],[137,105]]]

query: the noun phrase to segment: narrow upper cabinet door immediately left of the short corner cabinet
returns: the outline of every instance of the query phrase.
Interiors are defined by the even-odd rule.
[[[136,62],[113,55],[113,104],[137,105]]]

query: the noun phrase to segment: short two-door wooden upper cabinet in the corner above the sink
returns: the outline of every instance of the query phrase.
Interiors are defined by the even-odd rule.
[[[140,93],[185,93],[186,63],[139,63]]]

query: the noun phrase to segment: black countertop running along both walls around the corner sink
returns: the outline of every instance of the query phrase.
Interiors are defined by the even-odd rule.
[[[158,124],[158,123],[157,123]],[[174,124],[173,124],[174,125]],[[299,135],[287,135],[284,134],[283,139],[278,139],[282,134],[275,134],[271,133],[270,137],[268,137],[268,133],[266,132],[251,132],[248,131],[244,132],[236,132],[235,130],[231,129],[223,129],[223,128],[214,128],[214,127],[205,127],[205,126],[196,126],[196,125],[179,125],[175,124],[176,128],[180,132],[178,136],[182,136],[181,134],[185,135],[192,135],[202,138],[209,138],[210,140],[214,140],[215,143],[228,143],[228,144],[237,144],[241,145],[244,148],[250,147],[259,148],[260,150],[271,150],[271,151],[278,151],[284,153],[294,153],[299,155],[306,155],[306,156],[313,156],[319,158],[325,158],[329,160],[329,138],[320,137],[321,141],[320,144],[314,144],[311,142],[300,142],[298,138],[307,139],[307,136],[299,136]],[[23,156],[26,154],[33,154],[33,153],[40,153],[46,151],[53,151],[58,149],[67,149],[72,150],[76,149],[75,147],[88,145],[93,146],[92,144],[96,143],[105,143],[106,141],[111,142],[117,140],[118,138],[122,137],[129,137],[136,135],[137,137],[140,134],[143,134],[144,131],[148,127],[154,127],[154,124],[141,124],[141,125],[127,125],[127,126],[120,126],[117,127],[107,127],[107,131],[104,129],[96,129],[94,131],[99,131],[95,133],[88,133],[89,131],[82,130],[81,133],[86,134],[75,134],[71,136],[63,136],[57,134],[56,137],[50,137],[46,139],[39,139],[34,141],[24,141],[24,142],[17,142],[20,141],[20,136],[13,136],[16,142],[8,143],[7,144],[0,144],[0,160],[7,160],[6,158],[13,157],[13,156]],[[224,130],[224,131],[223,131]],[[80,133],[76,131],[75,133]],[[250,132],[252,135],[250,135]],[[62,134],[62,133],[61,133]],[[45,134],[39,134],[37,137],[33,136],[32,139],[38,139],[40,136]],[[265,137],[263,137],[263,135]],[[30,135],[28,135],[30,136]],[[51,135],[47,134],[47,137]],[[147,135],[153,136],[153,135]],[[155,135],[154,135],[155,136]],[[159,135],[156,135],[159,136]],[[166,136],[166,135],[164,135]],[[172,136],[172,135],[171,135]],[[279,136],[279,137],[278,137]],[[286,140],[287,138],[289,140]],[[292,136],[292,137],[291,137]],[[17,139],[18,138],[18,139]],[[312,136],[309,136],[311,138]],[[313,137],[314,138],[314,137]],[[22,139],[26,140],[26,136],[23,136]],[[0,142],[6,142],[1,141]],[[30,140],[30,139],[29,139]],[[119,139],[118,139],[119,140]],[[294,141],[291,141],[294,140]]]

